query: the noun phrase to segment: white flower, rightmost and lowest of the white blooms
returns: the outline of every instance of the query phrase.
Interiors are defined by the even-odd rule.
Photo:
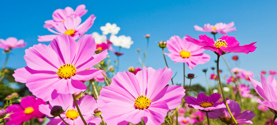
[[[132,38],[130,36],[126,37],[125,35],[121,35],[119,37],[111,35],[110,37],[110,41],[114,46],[120,46],[127,49],[129,49],[130,46],[134,43],[131,39]]]

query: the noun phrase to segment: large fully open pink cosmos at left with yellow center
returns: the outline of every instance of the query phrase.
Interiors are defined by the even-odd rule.
[[[44,101],[58,94],[73,94],[87,89],[84,80],[90,80],[102,70],[87,70],[106,58],[107,50],[94,55],[96,49],[91,35],[78,42],[69,35],[59,35],[49,46],[34,45],[26,49],[27,66],[13,74],[17,82],[26,83],[33,95]]]

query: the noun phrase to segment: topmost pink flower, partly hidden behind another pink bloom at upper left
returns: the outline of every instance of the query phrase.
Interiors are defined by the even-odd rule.
[[[43,25],[44,28],[52,28],[53,25],[57,23],[63,23],[67,17],[70,15],[75,16],[83,16],[85,15],[88,10],[85,10],[85,5],[78,5],[75,9],[75,11],[71,7],[65,7],[65,9],[57,9],[53,12],[52,17],[53,20],[47,20],[45,21],[45,24]]]

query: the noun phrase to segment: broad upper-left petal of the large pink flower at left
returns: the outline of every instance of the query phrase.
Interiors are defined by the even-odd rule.
[[[49,46],[44,44],[34,45],[25,50],[24,59],[27,66],[33,70],[58,71],[61,65],[58,55]]]

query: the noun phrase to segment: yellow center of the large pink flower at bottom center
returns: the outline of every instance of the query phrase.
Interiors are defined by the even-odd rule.
[[[150,102],[151,100],[149,100],[146,96],[141,95],[135,99],[134,103],[138,109],[147,109],[150,105]]]

